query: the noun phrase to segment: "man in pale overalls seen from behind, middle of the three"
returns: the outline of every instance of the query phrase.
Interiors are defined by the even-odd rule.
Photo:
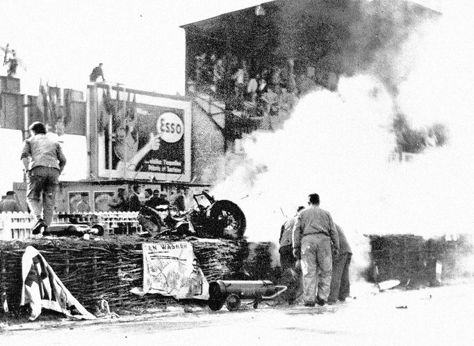
[[[339,251],[334,221],[319,203],[318,194],[309,195],[309,207],[300,212],[293,229],[293,255],[301,259],[303,272],[304,306],[326,304],[332,274],[331,242],[334,256]]]

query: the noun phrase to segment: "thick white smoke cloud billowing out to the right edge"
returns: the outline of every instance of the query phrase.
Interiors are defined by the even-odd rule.
[[[406,63],[398,96],[370,77],[343,78],[340,95],[307,95],[284,129],[245,141],[246,165],[213,194],[243,208],[250,240],[277,242],[280,207],[290,217],[313,192],[353,249],[362,234],[473,233],[472,13],[470,3],[455,3],[438,22],[413,33],[405,45],[409,60],[404,51],[393,56],[393,63]],[[418,128],[445,123],[450,142],[413,162],[389,163],[394,109]]]

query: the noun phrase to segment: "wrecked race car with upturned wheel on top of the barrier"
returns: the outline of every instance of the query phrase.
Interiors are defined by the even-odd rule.
[[[147,236],[195,235],[202,238],[242,239],[245,214],[230,200],[215,200],[202,191],[193,195],[196,207],[181,213],[171,205],[143,206],[138,221]]]

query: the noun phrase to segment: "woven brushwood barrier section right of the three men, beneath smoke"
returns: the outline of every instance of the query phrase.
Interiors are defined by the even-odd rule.
[[[473,276],[472,235],[443,235],[425,239],[416,235],[370,235],[372,265],[368,281],[399,280],[407,288],[436,286]]]

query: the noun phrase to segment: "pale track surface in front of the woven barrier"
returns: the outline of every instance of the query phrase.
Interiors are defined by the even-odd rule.
[[[352,299],[334,306],[261,304],[211,311],[172,304],[142,313],[74,321],[43,313],[35,322],[0,324],[2,344],[165,343],[170,345],[474,345],[474,283],[379,292],[353,285]],[[272,304],[273,305],[273,304]]]

